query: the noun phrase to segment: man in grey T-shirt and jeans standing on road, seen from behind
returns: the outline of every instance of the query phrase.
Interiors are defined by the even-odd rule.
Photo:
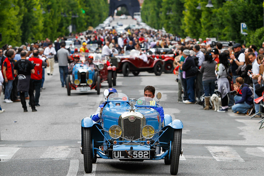
[[[57,53],[60,71],[60,81],[62,82],[62,87],[66,85],[66,78],[68,76],[68,59],[70,60],[70,53],[65,49],[65,43],[61,44],[61,48]]]

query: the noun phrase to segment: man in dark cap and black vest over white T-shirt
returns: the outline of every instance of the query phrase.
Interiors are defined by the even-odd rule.
[[[245,63],[245,54],[241,51],[241,44],[236,43],[233,45],[235,54],[231,54],[230,56],[230,64],[232,65],[232,74],[233,74],[233,82],[235,83],[235,79],[239,77],[236,71],[239,65],[244,65]]]

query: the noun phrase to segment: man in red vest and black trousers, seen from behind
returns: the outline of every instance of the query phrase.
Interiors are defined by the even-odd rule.
[[[40,106],[39,104],[39,97],[40,97],[40,87],[42,82],[42,66],[47,66],[48,63],[38,58],[39,56],[39,50],[33,51],[33,58],[29,58],[29,60],[34,62],[35,67],[35,73],[31,73],[31,79],[32,83],[35,86],[35,103],[36,106]]]

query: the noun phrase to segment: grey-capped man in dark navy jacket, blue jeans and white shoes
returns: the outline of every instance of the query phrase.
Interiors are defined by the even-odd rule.
[[[182,77],[184,78],[184,89],[187,90],[188,100],[184,101],[185,104],[194,104],[195,103],[195,92],[194,92],[194,82],[196,79],[196,73],[198,69],[195,69],[194,58],[190,56],[190,50],[183,50],[183,57],[185,58],[184,63],[182,64],[181,70]],[[196,73],[195,73],[195,70]]]

